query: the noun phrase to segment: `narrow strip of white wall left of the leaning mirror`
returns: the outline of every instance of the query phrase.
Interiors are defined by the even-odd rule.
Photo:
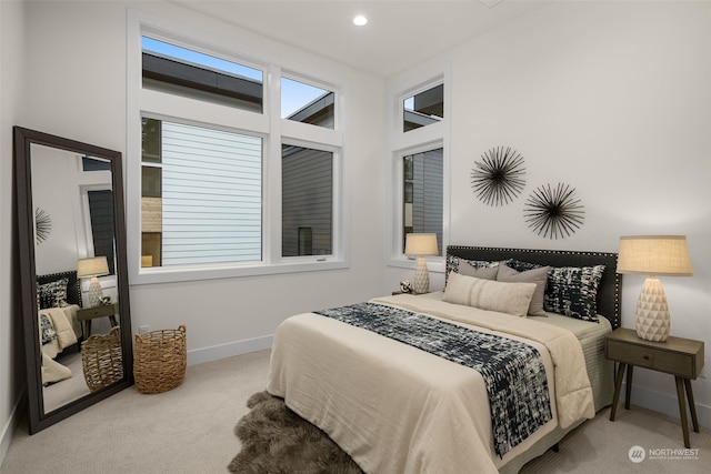
[[[23,78],[23,9],[0,1],[0,462],[10,446],[24,389],[22,327],[16,314],[19,300],[13,262],[12,125],[21,117]]]

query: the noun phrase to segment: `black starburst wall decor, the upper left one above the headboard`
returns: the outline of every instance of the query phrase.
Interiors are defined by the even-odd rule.
[[[474,194],[487,205],[503,205],[513,201],[525,185],[523,157],[511,147],[497,147],[474,162],[471,185]]]

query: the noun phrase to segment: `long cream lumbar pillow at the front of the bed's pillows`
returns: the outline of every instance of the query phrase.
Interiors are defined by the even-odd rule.
[[[452,273],[444,301],[523,317],[534,291],[535,283],[504,283]]]

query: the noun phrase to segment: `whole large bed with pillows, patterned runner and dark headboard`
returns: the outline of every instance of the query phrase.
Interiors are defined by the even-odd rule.
[[[615,265],[450,245],[443,291],[287,319],[267,390],[368,473],[518,472],[612,401]]]

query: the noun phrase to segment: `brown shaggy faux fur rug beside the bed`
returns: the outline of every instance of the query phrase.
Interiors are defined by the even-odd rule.
[[[282,399],[259,392],[250,412],[234,426],[242,451],[228,470],[236,474],[362,474],[321,430],[287,407]]]

